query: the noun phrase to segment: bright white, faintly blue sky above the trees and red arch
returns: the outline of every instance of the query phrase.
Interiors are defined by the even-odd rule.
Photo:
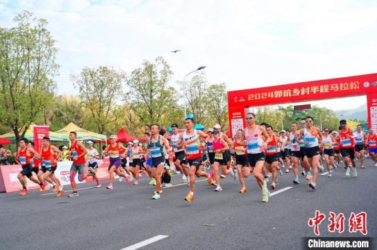
[[[46,18],[58,41],[57,94],[78,94],[70,74],[86,66],[130,74],[157,56],[175,87],[206,66],[208,83],[228,91],[377,72],[372,0],[0,0],[0,26],[12,27],[22,10]],[[339,110],[365,102],[311,103]]]

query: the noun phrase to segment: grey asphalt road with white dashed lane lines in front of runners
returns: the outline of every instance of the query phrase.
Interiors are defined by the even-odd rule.
[[[193,203],[184,201],[189,187],[180,176],[172,178],[180,185],[164,189],[160,200],[151,199],[154,186],[147,179],[138,186],[115,182],[113,191],[104,188],[108,182],[101,189],[80,184],[80,197],[73,198],[1,193],[0,249],[123,249],[158,235],[168,237],[143,249],[301,249],[302,237],[315,236],[308,227],[315,210],[326,214],[321,236],[362,236],[348,232],[350,213],[361,211],[367,212],[368,236],[375,236],[377,167],[366,163],[356,178],[346,178],[344,169],[332,178],[319,176],[317,191],[304,178],[293,184],[293,173],[284,173],[275,191],[292,188],[267,204],[252,176],[246,194],[238,193],[239,182],[230,176],[221,180],[219,193],[198,182]],[[343,234],[328,232],[330,211],[345,214]]]

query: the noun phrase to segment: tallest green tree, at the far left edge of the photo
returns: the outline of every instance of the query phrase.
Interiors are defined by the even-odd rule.
[[[14,23],[0,27],[0,117],[19,141],[51,104],[59,66],[47,20],[24,11]]]

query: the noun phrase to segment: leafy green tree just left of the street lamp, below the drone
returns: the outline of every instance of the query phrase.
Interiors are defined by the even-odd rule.
[[[177,92],[168,82],[173,72],[162,57],[154,62],[143,61],[140,68],[132,71],[126,81],[129,92],[125,101],[139,118],[138,126],[161,124],[177,102]],[[164,124],[161,124],[164,125]],[[165,124],[167,125],[167,124]]]

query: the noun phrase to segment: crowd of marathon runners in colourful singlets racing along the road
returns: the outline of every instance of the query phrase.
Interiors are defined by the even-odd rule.
[[[171,125],[171,135],[158,124],[151,126],[150,133],[145,133],[145,145],[134,140],[123,145],[117,142],[117,136],[110,136],[110,143],[104,149],[104,156],[110,158],[108,172],[110,184],[106,189],[112,190],[115,173],[119,180],[137,185],[144,173],[149,176],[149,184],[155,186],[153,199],[160,199],[162,184],[171,186],[172,173],[182,174],[182,182],[189,184],[189,193],[184,200],[194,201],[197,178],[206,178],[208,184],[214,186],[216,192],[223,191],[221,179],[231,175],[239,180],[239,193],[247,193],[245,178],[254,176],[260,186],[262,201],[269,201],[269,189],[276,189],[279,178],[293,174],[293,183],[300,184],[307,180],[310,189],[317,189],[319,171],[328,172],[339,167],[345,168],[345,176],[357,176],[356,159],[359,167],[365,168],[365,157],[370,156],[377,166],[377,136],[372,129],[364,133],[362,127],[356,130],[348,128],[345,120],[340,121],[339,131],[331,131],[313,126],[313,117],[306,117],[291,124],[291,130],[278,131],[266,123],[256,124],[254,113],[245,115],[247,127],[236,131],[230,138],[216,124],[213,128],[195,129],[195,120],[189,116],[184,120],[184,130],[177,124]],[[93,176],[95,187],[100,188],[97,178],[99,152],[88,141],[88,148],[77,141],[77,134],[71,132],[68,158],[73,161],[70,171],[72,193],[69,197],[77,197],[75,176],[85,180]],[[49,137],[42,140],[42,149],[36,152],[34,144],[21,139],[16,161],[23,170],[17,176],[23,189],[20,195],[26,195],[27,178],[40,185],[40,191],[48,189],[60,197],[64,193],[60,180],[54,172],[62,152],[50,145]],[[169,158],[173,156],[173,164]],[[86,170],[86,165],[88,166]],[[300,169],[299,169],[300,166]],[[326,170],[325,170],[325,167]]]

